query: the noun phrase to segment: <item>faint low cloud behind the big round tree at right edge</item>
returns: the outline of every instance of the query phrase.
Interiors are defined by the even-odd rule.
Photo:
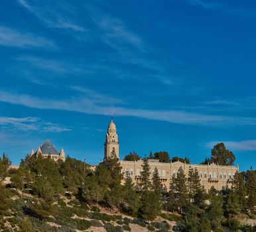
[[[224,143],[229,150],[256,150],[256,140],[247,141],[210,141],[206,147],[212,148],[217,143]]]

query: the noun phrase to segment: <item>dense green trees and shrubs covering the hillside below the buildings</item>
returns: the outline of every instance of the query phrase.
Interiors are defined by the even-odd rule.
[[[164,162],[167,154],[158,152],[155,158]],[[255,231],[249,225],[241,225],[237,217],[241,213],[255,217],[256,172],[252,169],[237,172],[231,189],[206,192],[196,168],[190,168],[188,176],[180,168],[167,183],[167,192],[159,170],[151,170],[147,158],[143,159],[137,184],[129,173],[121,174],[114,153],[96,168],[70,157],[65,162],[54,162],[50,157],[27,156],[18,170],[10,169],[10,164],[7,156],[0,158],[0,218],[8,216],[5,220],[19,225],[21,231],[49,231],[45,221],[57,223],[63,231],[91,226],[104,227],[106,231],[129,231],[129,223],[149,231],[168,231],[168,223],[151,223],[157,215],[177,221],[174,231]],[[11,184],[5,187],[3,180],[7,176],[11,177]],[[21,193],[23,198],[18,197]],[[69,202],[63,201],[65,194]],[[100,206],[137,218],[101,213]],[[1,219],[0,227],[4,223]]]

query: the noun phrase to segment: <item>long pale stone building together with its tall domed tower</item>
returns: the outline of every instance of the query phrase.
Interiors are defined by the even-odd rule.
[[[110,155],[111,151],[115,151],[115,154],[119,158],[119,143],[117,140],[117,130],[113,120],[109,123],[107,129],[107,137],[105,141],[105,156]],[[120,160],[122,167],[121,172],[129,174],[133,182],[139,182],[139,176],[142,171],[143,160],[138,161],[125,161]],[[186,164],[180,161],[177,162],[159,162],[159,160],[149,160],[149,166],[151,167],[151,176],[153,176],[153,171],[155,168],[159,170],[160,180],[162,185],[169,189],[170,180],[173,175],[176,175],[178,169],[182,167],[186,176],[190,168],[196,168],[200,176],[201,184],[204,189],[210,190],[213,186],[216,190],[222,190],[225,186],[231,187],[231,180],[235,172],[239,171],[237,166],[222,166],[218,164]],[[124,181],[124,180],[123,180]]]

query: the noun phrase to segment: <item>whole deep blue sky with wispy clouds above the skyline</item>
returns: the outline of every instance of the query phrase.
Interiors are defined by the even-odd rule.
[[[113,115],[121,158],[224,142],[255,168],[255,24],[252,0],[1,1],[0,152],[97,164]]]

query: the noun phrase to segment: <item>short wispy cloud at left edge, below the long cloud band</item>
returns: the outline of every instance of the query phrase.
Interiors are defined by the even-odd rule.
[[[66,127],[61,127],[58,124],[42,121],[38,117],[0,117],[1,129],[15,129],[18,131],[38,131],[48,133],[60,133],[71,131]]]

